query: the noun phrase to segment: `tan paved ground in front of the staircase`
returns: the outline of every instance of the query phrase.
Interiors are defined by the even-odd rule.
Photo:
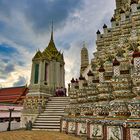
[[[47,131],[10,131],[1,132],[0,140],[81,140],[59,132]]]

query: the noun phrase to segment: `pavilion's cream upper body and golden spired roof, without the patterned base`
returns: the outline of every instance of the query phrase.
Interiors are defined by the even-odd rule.
[[[65,87],[64,65],[63,53],[55,47],[52,29],[49,45],[43,52],[38,50],[32,59],[29,92],[41,94],[46,93],[47,89],[55,90],[56,87]]]

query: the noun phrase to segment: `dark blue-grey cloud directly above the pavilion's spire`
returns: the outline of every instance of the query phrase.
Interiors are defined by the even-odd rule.
[[[32,23],[33,29],[45,32],[50,28],[51,21],[55,27],[61,26],[68,15],[80,7],[82,0],[34,0],[27,1],[26,18]]]

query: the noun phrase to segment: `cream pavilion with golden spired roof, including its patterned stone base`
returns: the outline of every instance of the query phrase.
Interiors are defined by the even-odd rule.
[[[23,104],[21,127],[37,120],[46,109],[50,97],[56,96],[56,89],[65,88],[65,70],[63,53],[57,50],[53,39],[53,26],[48,46],[38,50],[32,59],[29,93]],[[36,127],[36,126],[35,126]]]

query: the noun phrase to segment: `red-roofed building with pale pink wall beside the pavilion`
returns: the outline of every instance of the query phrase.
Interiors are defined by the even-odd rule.
[[[9,109],[14,109],[11,120],[20,122],[23,100],[28,93],[27,86],[0,89],[0,122],[9,121]],[[1,131],[1,128],[0,128]]]

